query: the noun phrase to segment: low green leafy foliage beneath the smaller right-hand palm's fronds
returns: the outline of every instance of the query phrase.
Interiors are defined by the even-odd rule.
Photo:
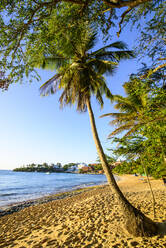
[[[165,174],[163,144],[157,142],[154,137],[147,139],[141,136],[129,136],[121,139],[114,138],[113,142],[118,143],[114,153],[126,158],[125,162],[113,169],[114,172],[119,174],[144,174],[144,167],[146,167],[148,175],[154,178],[161,178]]]

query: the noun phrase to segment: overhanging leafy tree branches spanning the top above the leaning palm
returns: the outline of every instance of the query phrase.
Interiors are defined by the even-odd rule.
[[[105,40],[113,36],[114,27],[118,35],[123,28],[137,28],[139,54],[146,53],[153,60],[151,71],[164,69],[165,15],[163,0],[1,1],[0,87],[7,89],[13,82],[25,81],[25,75],[28,80],[39,79],[27,52],[38,48],[40,55],[52,39],[58,44],[62,35],[69,32],[77,39],[75,31],[80,22],[91,23]],[[145,21],[146,25],[142,25]],[[48,22],[49,27],[45,25]]]

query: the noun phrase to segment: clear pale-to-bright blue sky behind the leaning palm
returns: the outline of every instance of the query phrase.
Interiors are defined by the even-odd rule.
[[[130,42],[127,42],[129,37]],[[135,38],[136,33],[127,32],[119,40],[127,42],[131,49]],[[121,62],[117,73],[107,78],[112,93],[124,94],[122,84],[137,69],[136,60]],[[61,110],[58,95],[40,97],[39,87],[51,75],[52,72],[41,70],[40,82],[13,84],[8,91],[0,92],[0,169],[13,169],[29,163],[96,161],[88,113],[80,114],[75,107]],[[113,105],[106,99],[101,111],[92,99],[92,107],[106,151],[111,146],[107,137],[113,127],[108,125],[109,118],[99,116],[113,112]]]

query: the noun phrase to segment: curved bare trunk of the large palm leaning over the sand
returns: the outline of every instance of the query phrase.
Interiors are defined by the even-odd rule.
[[[125,217],[126,230],[134,236],[152,236],[156,234],[157,225],[152,220],[150,220],[148,217],[146,217],[143,213],[141,213],[138,209],[132,206],[129,203],[129,201],[124,197],[123,193],[120,191],[116,183],[116,180],[114,179],[114,176],[112,174],[110,166],[107,162],[103,148],[101,146],[98,133],[97,133],[97,129],[96,129],[94,114],[93,114],[89,99],[87,99],[86,105],[87,105],[87,109],[89,113],[90,124],[92,128],[92,134],[93,134],[94,142],[96,145],[96,149],[97,149],[103,170],[107,177],[108,183],[111,186],[113,193],[115,193],[118,203],[123,211],[123,214]]]

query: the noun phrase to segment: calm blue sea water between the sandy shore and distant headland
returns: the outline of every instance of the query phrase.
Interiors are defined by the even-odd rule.
[[[106,184],[105,175],[0,170],[0,209],[26,200]]]

